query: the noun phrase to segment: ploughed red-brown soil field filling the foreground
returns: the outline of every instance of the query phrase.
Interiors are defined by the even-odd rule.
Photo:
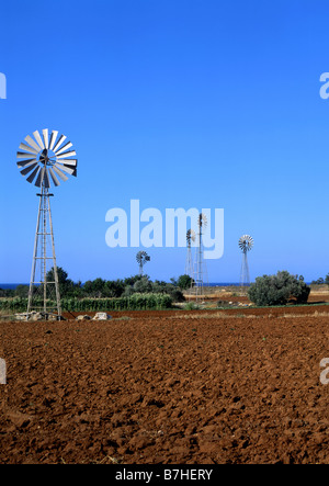
[[[0,323],[0,463],[329,463],[329,307]]]

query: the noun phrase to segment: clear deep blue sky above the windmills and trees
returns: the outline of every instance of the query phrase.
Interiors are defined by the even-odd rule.
[[[105,244],[106,212],[129,216],[135,199],[224,208],[211,282],[239,280],[243,234],[252,280],[329,272],[327,0],[13,0],[0,13],[0,282],[30,281],[38,199],[15,152],[43,128],[78,155],[52,200],[72,280],[138,272],[138,249]],[[184,248],[147,252],[152,279],[184,273]]]

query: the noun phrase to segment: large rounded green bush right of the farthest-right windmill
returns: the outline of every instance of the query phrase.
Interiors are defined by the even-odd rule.
[[[285,305],[290,301],[297,304],[306,303],[310,287],[287,271],[276,275],[258,276],[248,290],[248,296],[256,305]]]

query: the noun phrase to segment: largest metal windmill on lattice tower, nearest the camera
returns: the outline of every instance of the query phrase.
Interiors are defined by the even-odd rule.
[[[33,306],[34,297],[43,302],[42,310],[47,317],[47,301],[56,299],[57,316],[60,318],[60,295],[58,285],[58,273],[56,265],[55,242],[53,231],[53,221],[50,211],[50,183],[59,185],[59,180],[66,181],[69,176],[77,176],[76,151],[71,149],[72,144],[65,140],[67,137],[53,131],[50,136],[47,128],[33,132],[33,136],[27,135],[20,144],[16,165],[22,176],[27,176],[26,181],[41,188],[36,231],[34,239],[33,263],[30,280],[27,315]],[[57,138],[58,137],[58,138]],[[53,278],[47,281],[47,273],[53,263]],[[55,291],[55,292],[54,292]],[[39,304],[38,304],[39,305]]]

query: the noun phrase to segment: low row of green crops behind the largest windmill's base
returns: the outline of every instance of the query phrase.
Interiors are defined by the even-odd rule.
[[[133,294],[115,298],[63,298],[61,309],[69,312],[148,310],[167,309],[172,306],[172,297],[167,294]],[[33,299],[33,307],[43,307],[42,298]],[[56,307],[55,301],[47,301],[47,308]],[[25,312],[27,298],[0,298],[0,310]]]

